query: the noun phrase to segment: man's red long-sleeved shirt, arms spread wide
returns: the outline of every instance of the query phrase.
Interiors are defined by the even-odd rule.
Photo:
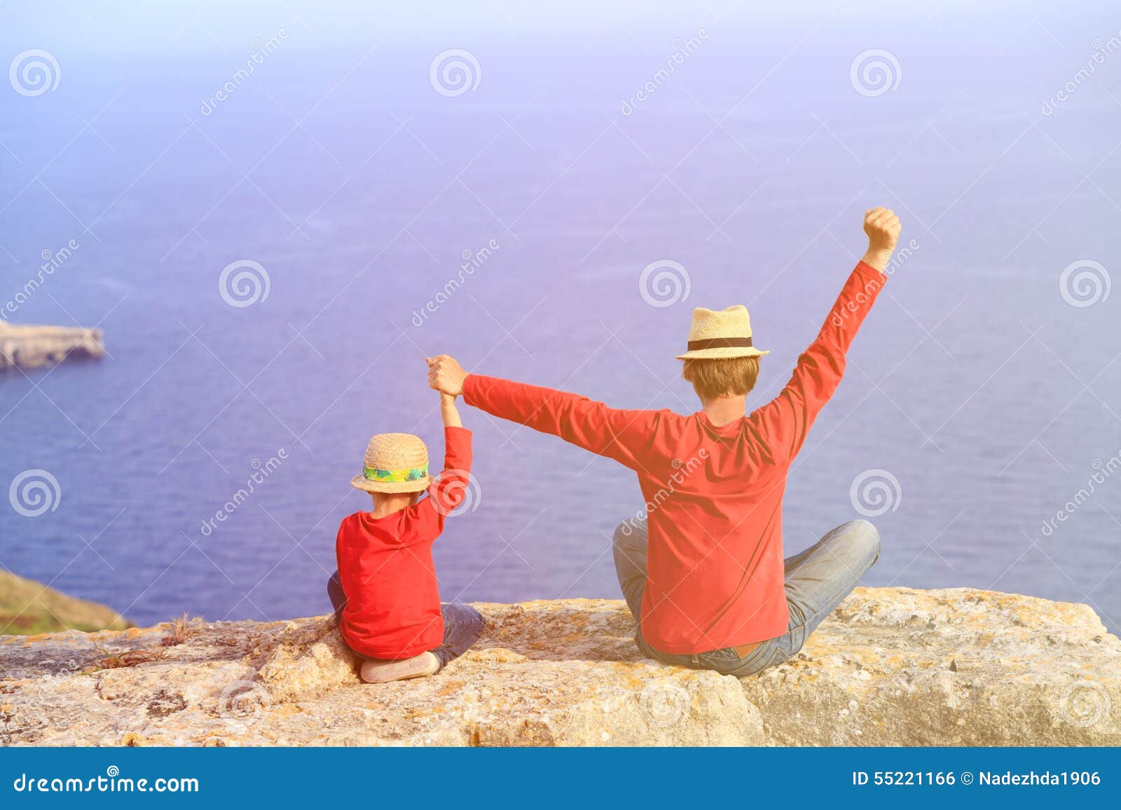
[[[782,635],[787,471],[844,373],[845,352],[886,277],[861,262],[773,400],[730,425],[703,412],[615,410],[546,388],[470,374],[469,404],[554,434],[638,474],[648,520],[641,627],[656,650],[708,652]]]

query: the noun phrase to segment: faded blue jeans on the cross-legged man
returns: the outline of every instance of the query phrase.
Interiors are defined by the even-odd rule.
[[[615,529],[615,574],[627,605],[640,622],[646,589],[646,521],[623,521]],[[853,520],[830,530],[802,553],[786,559],[786,604],[790,624],[785,635],[765,641],[747,657],[732,648],[695,655],[659,652],[647,644],[639,625],[634,636],[646,655],[693,669],[711,669],[736,677],[754,674],[782,663],[806,643],[817,625],[833,613],[880,556],[880,533],[867,520]]]

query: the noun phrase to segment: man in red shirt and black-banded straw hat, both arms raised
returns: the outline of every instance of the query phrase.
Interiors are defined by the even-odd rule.
[[[467,404],[554,434],[638,474],[646,520],[620,523],[615,571],[652,658],[747,676],[790,658],[876,562],[868,521],[831,530],[782,559],[782,494],[790,464],[844,373],[845,353],[886,282],[899,239],[887,208],[864,215],[868,252],[849,276],[786,388],[744,416],[762,352],[742,306],[698,307],[683,376],[701,410],[615,410],[576,394],[469,374],[428,360],[428,384]]]

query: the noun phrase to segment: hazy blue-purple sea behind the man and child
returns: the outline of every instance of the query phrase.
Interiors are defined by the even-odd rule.
[[[349,480],[369,436],[414,431],[441,453],[426,354],[691,412],[674,360],[689,308],[743,302],[771,350],[762,402],[861,254],[863,210],[883,204],[914,242],[791,472],[788,552],[860,516],[853,481],[888,471],[869,584],[1088,602],[1121,626],[1121,476],[1065,505],[1121,451],[1121,299],[1072,306],[1059,286],[1077,260],[1121,264],[1121,57],[1043,112],[1121,27],[1108,4],[1034,24],[1039,9],[952,4],[874,38],[860,20],[704,9],[612,22],[589,8],[560,27],[480,11],[421,35],[294,8],[306,28],[285,8],[226,26],[217,9],[128,21],[111,3],[89,25],[117,15],[138,32],[113,53],[83,47],[77,20],[0,35],[6,58],[54,47],[62,71],[36,97],[0,84],[0,304],[74,240],[9,318],[96,324],[110,352],[0,376],[2,488],[45,469],[59,491],[38,516],[0,500],[0,565],[139,623],[325,612],[339,521],[368,503]],[[251,37],[281,27],[204,114]],[[850,83],[870,47],[901,69],[876,97]],[[433,89],[448,48],[476,57],[474,91]],[[661,259],[691,289],[652,307],[638,280]],[[265,268],[267,298],[223,300],[238,260]],[[632,476],[463,418],[481,502],[437,542],[444,597],[618,596],[610,536],[641,506]],[[270,474],[204,529],[258,465]]]

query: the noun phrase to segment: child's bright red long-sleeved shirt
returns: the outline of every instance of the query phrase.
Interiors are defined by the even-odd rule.
[[[463,501],[470,471],[471,431],[444,428],[444,472],[427,497],[385,518],[355,512],[343,519],[335,540],[346,595],[339,629],[354,652],[402,659],[443,643],[432,543]]]

